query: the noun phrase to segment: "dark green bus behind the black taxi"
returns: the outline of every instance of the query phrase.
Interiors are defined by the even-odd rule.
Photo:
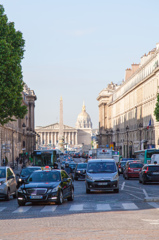
[[[58,157],[59,157],[59,152],[55,149],[34,150],[33,166],[40,166],[42,169],[45,166],[53,167]]]

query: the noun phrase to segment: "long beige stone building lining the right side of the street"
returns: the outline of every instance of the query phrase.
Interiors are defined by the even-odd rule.
[[[114,145],[127,157],[134,151],[159,147],[154,109],[159,87],[159,43],[126,69],[121,85],[108,84],[98,95],[99,145]]]

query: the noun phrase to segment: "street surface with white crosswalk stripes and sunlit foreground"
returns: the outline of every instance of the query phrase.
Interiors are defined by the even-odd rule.
[[[0,200],[0,239],[159,239],[159,184],[142,185],[123,179],[120,191],[86,194],[75,181],[75,199],[60,206]]]

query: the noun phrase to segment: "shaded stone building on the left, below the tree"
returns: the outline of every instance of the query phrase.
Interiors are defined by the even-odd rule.
[[[36,95],[25,84],[22,92],[23,104],[28,112],[24,119],[15,119],[4,126],[0,126],[0,164],[7,158],[8,165],[14,165],[16,157],[25,153],[31,155],[35,148],[34,109]]]

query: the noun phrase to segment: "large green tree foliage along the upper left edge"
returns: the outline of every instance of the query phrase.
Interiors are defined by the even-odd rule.
[[[22,105],[22,68],[24,54],[22,33],[8,22],[0,5],[0,124],[23,118],[27,107]]]

